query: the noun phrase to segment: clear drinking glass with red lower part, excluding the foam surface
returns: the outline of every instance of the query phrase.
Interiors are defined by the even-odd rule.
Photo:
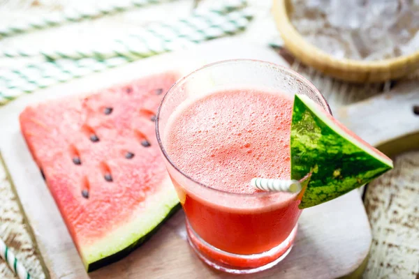
[[[331,114],[325,98],[301,75],[247,59],[204,66],[183,77],[164,96],[156,116],[156,135],[186,214],[189,243],[205,263],[229,273],[263,271],[288,255],[297,234],[300,197],[295,194],[284,202],[279,199],[284,193],[229,193],[204,185],[173,163],[165,149],[165,135],[170,116],[185,102],[223,89],[243,88],[302,94]]]

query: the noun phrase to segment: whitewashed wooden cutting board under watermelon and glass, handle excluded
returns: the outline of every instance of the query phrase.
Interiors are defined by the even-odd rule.
[[[39,100],[96,90],[168,69],[192,70],[222,59],[285,62],[272,50],[235,40],[217,40],[187,52],[144,59],[23,96],[0,109],[0,151],[13,179],[51,278],[235,278],[208,268],[186,243],[179,211],[147,243],[121,261],[85,273],[73,241],[20,133],[18,115]],[[350,115],[350,114],[346,114]],[[362,130],[351,127],[362,136]],[[400,132],[400,131],[399,131]],[[303,211],[295,246],[269,271],[242,278],[338,278],[351,274],[369,252],[372,240],[357,191]]]

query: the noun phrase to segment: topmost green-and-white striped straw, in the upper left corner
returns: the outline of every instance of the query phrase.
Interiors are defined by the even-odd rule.
[[[115,3],[101,3],[98,6],[84,6],[61,12],[47,13],[27,22],[13,23],[6,27],[0,27],[0,38],[14,36],[29,31],[57,27],[68,22],[80,22],[82,20],[93,20],[105,15],[124,12],[132,8],[139,8],[150,4],[163,3],[170,0],[129,0],[115,1]]]

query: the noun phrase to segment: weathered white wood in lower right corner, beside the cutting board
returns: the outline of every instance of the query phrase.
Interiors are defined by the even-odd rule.
[[[418,182],[419,151],[411,151],[369,183],[365,206],[374,239],[365,278],[419,278]]]

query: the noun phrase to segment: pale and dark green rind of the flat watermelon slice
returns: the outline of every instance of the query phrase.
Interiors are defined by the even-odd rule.
[[[145,243],[178,209],[175,188],[170,179],[166,179],[156,193],[147,197],[147,204],[138,209],[131,220],[124,220],[109,234],[80,248],[84,268],[91,272],[124,258]]]

